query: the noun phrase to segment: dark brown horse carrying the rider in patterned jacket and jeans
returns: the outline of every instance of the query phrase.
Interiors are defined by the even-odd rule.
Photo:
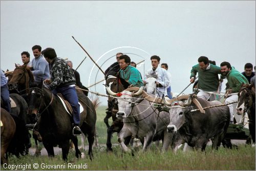
[[[95,104],[83,93],[77,92],[78,100],[83,107],[80,113],[80,129],[88,136],[90,159],[93,157],[92,146],[95,134],[96,111]],[[63,107],[60,99],[48,88],[30,88],[29,115],[37,121],[39,133],[42,137],[49,157],[54,157],[53,146],[62,149],[62,159],[67,160],[70,139],[75,145],[76,157],[81,154],[78,150],[77,137],[72,134],[72,117]]]

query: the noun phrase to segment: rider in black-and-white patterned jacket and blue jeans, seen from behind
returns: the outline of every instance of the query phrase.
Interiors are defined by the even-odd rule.
[[[70,103],[73,109],[74,128],[73,134],[80,135],[80,109],[78,104],[78,96],[75,89],[75,75],[66,61],[57,58],[53,48],[46,48],[42,51],[47,62],[50,64],[51,79],[46,79],[44,83],[48,84],[54,94],[61,93]]]

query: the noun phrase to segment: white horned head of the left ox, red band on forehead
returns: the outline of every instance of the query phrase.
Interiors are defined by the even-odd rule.
[[[132,112],[134,102],[137,101],[135,96],[140,95],[144,88],[143,86],[140,87],[140,89],[137,92],[123,90],[121,93],[115,93],[111,91],[111,89],[108,86],[105,85],[105,87],[110,95],[119,96],[119,99],[117,100],[118,102],[118,112],[116,114],[117,118],[125,118]]]

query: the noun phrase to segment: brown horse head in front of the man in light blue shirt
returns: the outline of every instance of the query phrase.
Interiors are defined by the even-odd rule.
[[[34,82],[34,76],[26,65],[17,66],[12,72],[9,78],[8,87],[9,91],[16,90],[20,94],[25,94],[29,92],[29,83]]]

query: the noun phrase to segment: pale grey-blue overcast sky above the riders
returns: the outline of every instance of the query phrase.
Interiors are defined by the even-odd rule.
[[[255,1],[1,1],[1,69],[22,63],[20,53],[40,45],[68,58],[84,86],[104,78],[83,46],[104,71],[117,52],[144,63],[150,57],[167,63],[172,91],[180,93],[190,82],[191,67],[200,56],[228,61],[239,71],[255,65]],[[90,88],[105,94],[103,82]],[[192,86],[184,93],[191,93]],[[224,85],[225,87],[225,85]],[[223,90],[224,91],[224,90]],[[100,97],[101,105],[107,104]]]

